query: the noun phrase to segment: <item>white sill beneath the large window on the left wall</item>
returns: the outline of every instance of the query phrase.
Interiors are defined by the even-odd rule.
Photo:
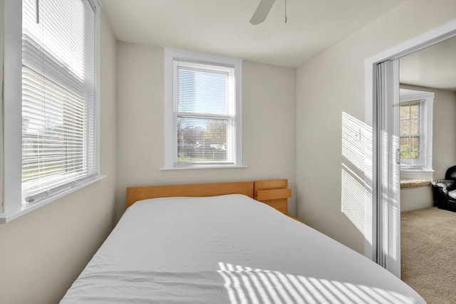
[[[66,189],[65,191],[59,192],[58,194],[48,197],[47,199],[43,199],[36,203],[21,205],[20,209],[2,212],[2,213],[0,213],[0,224],[5,224],[5,223],[8,223],[9,221],[17,219],[20,216],[28,214],[29,212],[31,212],[33,210],[41,208],[42,206],[46,206],[47,204],[51,203],[52,201],[55,201],[56,199],[60,199],[61,197],[66,196],[67,194],[76,192],[79,189],[87,187],[90,184],[94,184],[95,182],[98,182],[101,179],[104,179],[105,177],[106,177],[105,175],[99,175],[98,177],[95,177],[94,179],[90,179],[89,181],[84,182],[83,184],[79,184],[77,187],[73,187],[71,189]]]

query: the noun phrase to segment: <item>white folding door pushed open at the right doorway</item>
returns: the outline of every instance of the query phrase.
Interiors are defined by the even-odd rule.
[[[400,278],[399,61],[377,65],[377,263]]]

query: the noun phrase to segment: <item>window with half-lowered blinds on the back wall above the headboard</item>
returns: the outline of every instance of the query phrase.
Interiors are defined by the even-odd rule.
[[[165,49],[165,169],[242,164],[241,64]]]

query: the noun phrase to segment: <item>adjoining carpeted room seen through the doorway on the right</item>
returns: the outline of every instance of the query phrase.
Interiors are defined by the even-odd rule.
[[[450,38],[400,58],[401,278],[432,303],[456,301],[456,270],[447,258],[456,248],[456,213],[440,199],[451,184],[438,187],[451,181],[456,157],[455,43]]]

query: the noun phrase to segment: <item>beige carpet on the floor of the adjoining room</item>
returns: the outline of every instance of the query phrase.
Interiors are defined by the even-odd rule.
[[[402,279],[427,304],[456,303],[456,212],[401,213]]]

